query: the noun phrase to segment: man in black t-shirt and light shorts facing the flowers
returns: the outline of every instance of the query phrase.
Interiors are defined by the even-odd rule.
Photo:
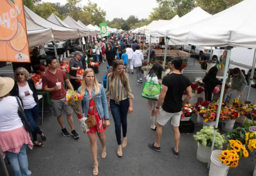
[[[156,143],[148,143],[150,149],[161,151],[160,139],[162,136],[162,127],[170,120],[173,125],[175,147],[172,151],[175,156],[179,156],[180,143],[180,117],[181,109],[184,103],[187,103],[192,98],[192,91],[189,79],[180,73],[182,65],[181,59],[173,59],[171,62],[172,73],[165,76],[162,81],[162,90],[158,99],[156,113],[157,120],[157,134]],[[182,100],[183,92],[186,91],[186,97]],[[164,104],[163,104],[164,102]],[[163,104],[162,109],[160,106]]]

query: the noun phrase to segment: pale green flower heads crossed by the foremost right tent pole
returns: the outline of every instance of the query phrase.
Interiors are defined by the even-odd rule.
[[[195,135],[193,135],[196,142],[199,142],[202,146],[210,147],[213,143],[213,136],[214,136],[214,127],[203,127],[200,132],[196,132]],[[223,144],[225,144],[227,141],[223,135],[221,135],[219,132],[216,133],[215,143],[214,147],[222,149]]]

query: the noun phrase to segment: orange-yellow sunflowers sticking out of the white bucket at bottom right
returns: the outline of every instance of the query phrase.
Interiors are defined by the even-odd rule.
[[[237,167],[240,158],[248,157],[249,153],[242,143],[238,140],[229,140],[227,150],[222,151],[220,160],[230,167]]]

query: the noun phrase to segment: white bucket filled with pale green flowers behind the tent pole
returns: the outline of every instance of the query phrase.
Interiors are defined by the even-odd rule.
[[[200,132],[193,135],[197,142],[196,158],[201,162],[209,162],[211,157],[211,146],[213,143],[214,127],[203,127]],[[214,148],[222,149],[223,144],[226,143],[225,137],[219,132],[216,133]]]

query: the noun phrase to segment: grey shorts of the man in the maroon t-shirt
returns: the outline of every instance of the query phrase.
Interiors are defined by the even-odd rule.
[[[60,117],[62,115],[62,112],[64,114],[72,114],[73,111],[72,109],[64,103],[65,97],[63,99],[59,100],[50,100],[50,106],[52,106],[53,111],[54,111],[54,116]]]

